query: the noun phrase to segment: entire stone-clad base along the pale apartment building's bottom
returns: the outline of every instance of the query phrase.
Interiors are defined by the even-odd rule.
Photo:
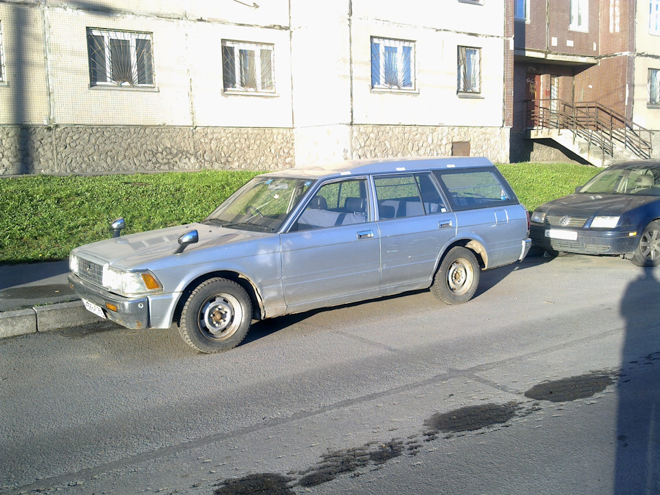
[[[319,132],[219,127],[0,126],[0,175],[209,168],[280,170],[296,162],[327,162],[330,158],[450,156],[456,142],[469,142],[471,156],[508,162],[506,128],[342,125],[322,129],[323,139]],[[305,142],[296,146],[296,137]],[[314,145],[306,145],[307,140]]]

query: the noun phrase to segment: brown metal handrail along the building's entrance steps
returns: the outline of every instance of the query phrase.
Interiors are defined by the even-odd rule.
[[[651,131],[598,102],[566,102],[558,98],[527,100],[525,115],[533,127],[567,129],[605,155],[613,155],[615,142],[640,158],[650,158]]]

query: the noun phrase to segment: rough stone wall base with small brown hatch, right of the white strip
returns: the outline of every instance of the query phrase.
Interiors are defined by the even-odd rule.
[[[451,156],[456,142],[470,156],[509,161],[509,129],[503,127],[353,126],[353,158]]]

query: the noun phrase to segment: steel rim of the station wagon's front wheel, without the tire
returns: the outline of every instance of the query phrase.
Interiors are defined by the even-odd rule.
[[[213,340],[230,338],[243,321],[243,307],[231,294],[216,294],[199,309],[199,329]]]

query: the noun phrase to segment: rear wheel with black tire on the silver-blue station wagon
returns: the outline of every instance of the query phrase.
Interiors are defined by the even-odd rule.
[[[448,305],[465,303],[472,299],[479,285],[481,267],[474,253],[456,246],[445,255],[433,278],[433,294]]]

